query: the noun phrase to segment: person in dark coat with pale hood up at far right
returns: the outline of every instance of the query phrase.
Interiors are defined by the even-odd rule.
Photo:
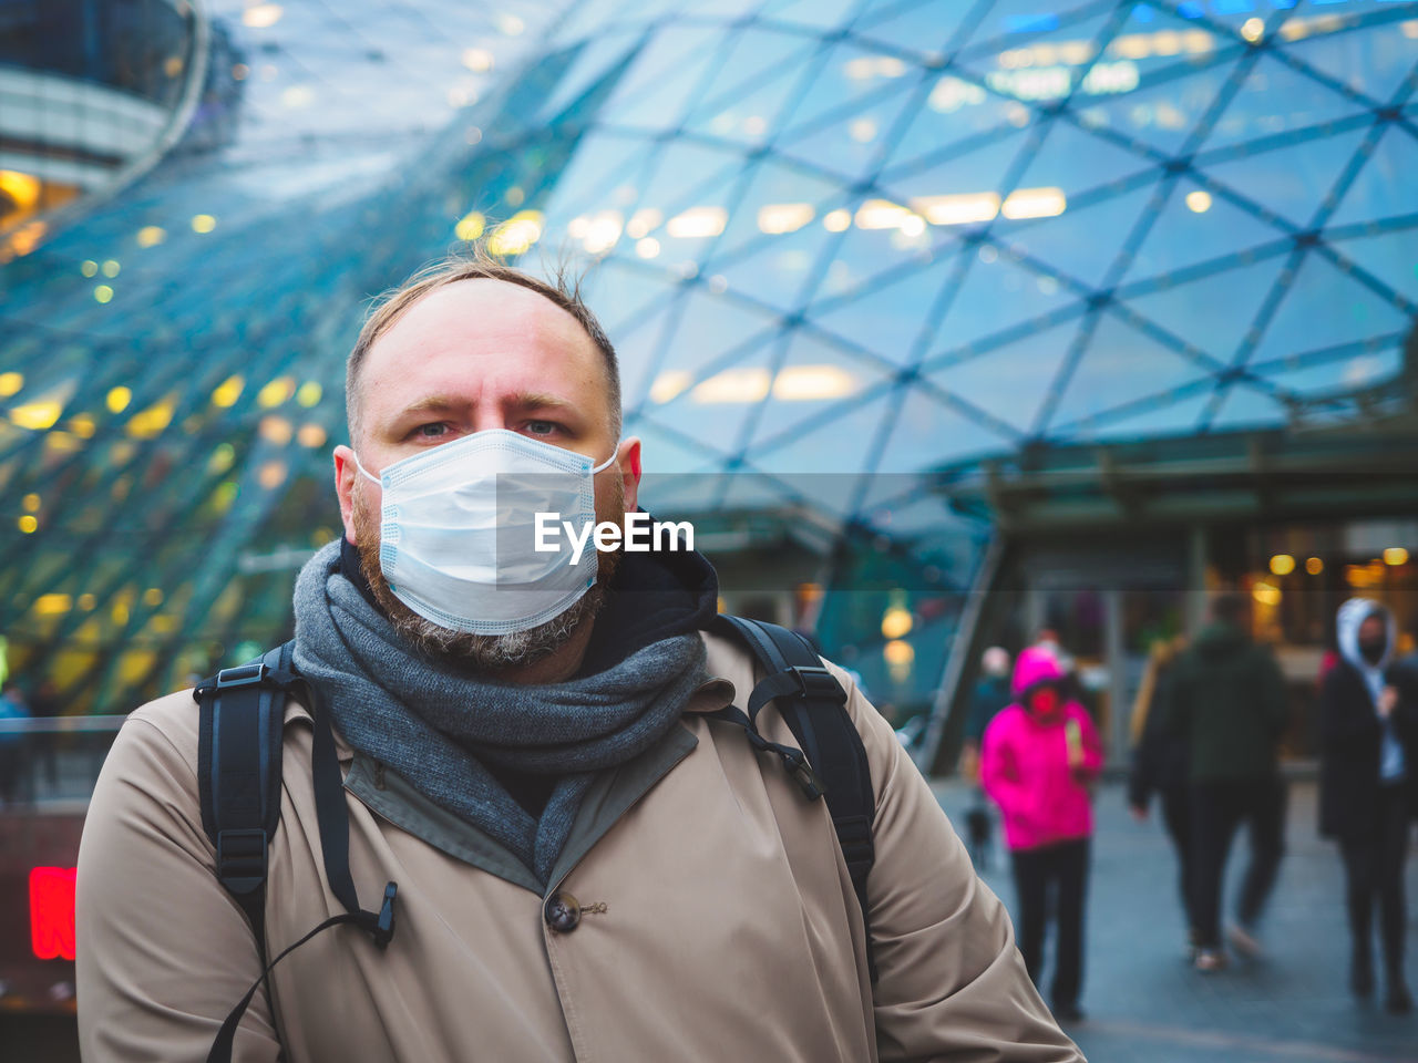
[[[1418,806],[1418,704],[1391,665],[1392,614],[1366,598],[1339,609],[1340,663],[1320,690],[1320,833],[1344,857],[1353,935],[1350,988],[1374,991],[1373,914],[1378,897],[1388,1011],[1412,1011],[1404,977],[1404,862]]]

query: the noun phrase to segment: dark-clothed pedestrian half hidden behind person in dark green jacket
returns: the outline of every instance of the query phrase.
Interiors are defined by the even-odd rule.
[[[1161,821],[1177,855],[1177,894],[1187,923],[1187,958],[1197,958],[1197,923],[1191,914],[1191,792],[1187,788],[1187,743],[1167,730],[1166,702],[1171,696],[1173,668],[1185,649],[1185,638],[1159,639],[1147,656],[1147,669],[1133,703],[1133,764],[1127,775],[1127,805],[1133,818],[1147,821],[1151,795],[1157,794]]]

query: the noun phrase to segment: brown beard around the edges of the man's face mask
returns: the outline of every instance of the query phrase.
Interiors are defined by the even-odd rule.
[[[625,526],[625,496],[620,476],[611,479],[610,497],[605,499],[607,513],[596,506],[596,520],[614,520]],[[476,635],[468,631],[454,631],[420,617],[404,605],[389,590],[389,581],[379,564],[380,522],[364,505],[364,488],[356,482],[353,506],[354,536],[359,551],[360,571],[374,594],[374,601],[389,617],[394,631],[424,656],[440,663],[452,665],[471,672],[499,672],[513,666],[525,666],[542,660],[567,642],[581,624],[593,624],[605,604],[605,591],[615,570],[620,567],[620,550],[597,553],[596,583],[577,598],[564,612],[543,621],[527,631],[512,631],[503,635]]]

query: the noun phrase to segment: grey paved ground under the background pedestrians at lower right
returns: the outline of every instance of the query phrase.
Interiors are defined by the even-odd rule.
[[[939,787],[959,815],[968,791]],[[1290,789],[1288,853],[1262,927],[1266,957],[1198,975],[1181,958],[1184,924],[1176,865],[1160,823],[1136,823],[1119,785],[1098,801],[1086,928],[1083,1009],[1069,1029],[1093,1063],[1373,1063],[1418,1060],[1418,1016],[1394,1018],[1349,995],[1349,933],[1334,846],[1314,829],[1314,787]],[[1232,852],[1227,903],[1244,870]],[[1003,857],[1003,859],[1001,859]],[[1409,982],[1418,981],[1418,860],[1409,862]],[[997,848],[986,880],[1014,904],[1007,856]],[[1228,907],[1229,910],[1229,907]]]

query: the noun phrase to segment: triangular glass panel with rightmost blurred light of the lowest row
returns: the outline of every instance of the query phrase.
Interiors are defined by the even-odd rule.
[[[854,408],[861,397],[883,390],[889,381],[881,367],[805,332],[794,332],[773,377],[750,449],[771,448],[786,434],[822,428],[835,421],[838,411]]]

